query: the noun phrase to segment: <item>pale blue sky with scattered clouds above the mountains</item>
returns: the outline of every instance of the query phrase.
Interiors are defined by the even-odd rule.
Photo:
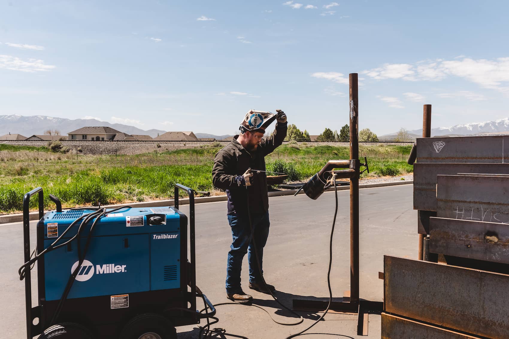
[[[509,117],[503,1],[4,1],[0,115],[233,134],[249,109],[310,134]]]

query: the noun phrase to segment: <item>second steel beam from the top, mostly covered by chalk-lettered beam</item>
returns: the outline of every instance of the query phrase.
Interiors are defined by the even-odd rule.
[[[509,143],[507,144],[509,148]],[[437,175],[487,173],[509,175],[509,163],[414,163],[414,210],[436,211]],[[474,174],[478,176],[479,174]]]

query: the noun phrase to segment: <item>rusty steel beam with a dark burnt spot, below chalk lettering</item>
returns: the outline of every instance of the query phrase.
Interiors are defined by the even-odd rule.
[[[430,218],[430,251],[509,264],[509,228],[504,223]]]

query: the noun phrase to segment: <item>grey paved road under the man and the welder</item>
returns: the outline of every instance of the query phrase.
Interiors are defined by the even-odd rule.
[[[378,272],[383,271],[383,255],[410,258],[417,255],[412,189],[412,185],[403,185],[360,190],[360,297],[363,299],[382,301],[383,281],[378,279]],[[331,281],[333,294],[341,297],[344,290],[349,290],[350,284],[349,191],[339,191],[338,197]],[[264,252],[267,282],[282,291],[276,296],[289,306],[293,298],[327,297],[328,239],[334,212],[334,192],[324,193],[316,201],[300,194],[296,197],[272,197],[269,203],[271,228]],[[181,209],[187,214],[187,206]],[[231,232],[225,211],[225,202],[196,205],[197,285],[214,303],[228,301],[224,293],[224,277]],[[35,227],[32,229],[35,230]],[[0,328],[9,338],[25,336],[24,284],[17,275],[22,258],[21,224],[0,225]],[[244,285],[247,285],[246,262],[244,260],[242,270]],[[245,289],[248,290],[247,286]],[[255,302],[264,306],[277,320],[295,320],[284,318],[288,313],[280,310],[270,296],[254,291],[252,295]],[[221,321],[214,327],[227,329],[230,334],[224,338],[285,338],[318,318],[313,313],[304,312],[302,315],[305,318],[303,324],[281,326],[273,323],[259,308],[225,305],[218,307],[217,316]],[[357,338],[356,316],[330,314],[325,320],[310,332],[335,335],[306,337]],[[197,335],[195,326],[179,327],[178,332],[179,339],[195,338]],[[380,338],[380,316],[370,315],[368,337]]]

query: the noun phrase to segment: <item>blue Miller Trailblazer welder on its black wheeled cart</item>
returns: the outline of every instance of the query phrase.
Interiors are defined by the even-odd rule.
[[[189,194],[189,218],[179,211],[179,189]],[[40,220],[31,253],[29,204],[36,193]],[[213,318],[214,306],[195,284],[192,189],[175,185],[174,207],[62,210],[50,194],[56,210],[44,214],[43,198],[41,187],[23,198],[19,274],[27,339],[175,339],[175,326]],[[36,261],[39,302],[32,307]],[[207,314],[197,312],[196,297]]]

